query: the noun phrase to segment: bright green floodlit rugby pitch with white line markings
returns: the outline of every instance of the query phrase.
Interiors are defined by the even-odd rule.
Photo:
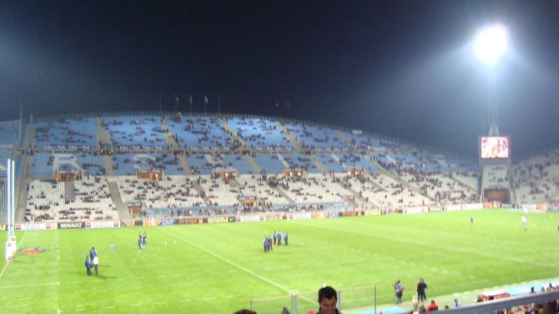
[[[18,232],[19,249],[47,251],[1,262],[0,301],[3,313],[233,313],[250,299],[316,291],[324,283],[377,285],[378,303],[388,304],[398,279],[412,294],[422,276],[435,297],[556,277],[559,213],[530,213],[527,230],[522,214],[491,209]],[[277,229],[289,232],[289,246],[263,253],[264,232]],[[138,252],[143,230],[147,246]],[[87,277],[92,246],[99,276]]]

